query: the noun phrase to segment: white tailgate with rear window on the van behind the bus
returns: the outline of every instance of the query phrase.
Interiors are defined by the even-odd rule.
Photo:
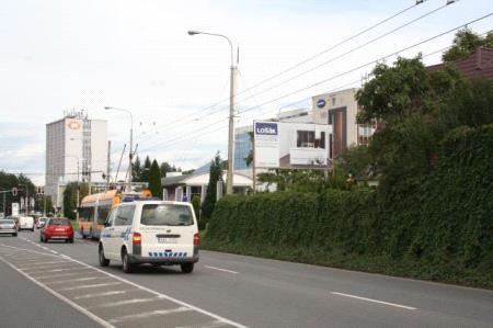
[[[187,204],[144,204],[139,230],[144,257],[170,260],[193,257],[197,226]]]

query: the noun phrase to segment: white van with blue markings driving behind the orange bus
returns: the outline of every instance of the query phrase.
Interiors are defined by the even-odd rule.
[[[101,231],[102,267],[122,261],[126,273],[135,265],[180,264],[191,273],[198,261],[198,228],[190,203],[137,201],[122,203],[110,213]]]

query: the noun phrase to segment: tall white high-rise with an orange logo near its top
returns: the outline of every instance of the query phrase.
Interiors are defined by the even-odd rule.
[[[46,124],[45,194],[61,207],[59,185],[71,181],[103,182],[107,174],[106,121],[89,120],[82,112]]]

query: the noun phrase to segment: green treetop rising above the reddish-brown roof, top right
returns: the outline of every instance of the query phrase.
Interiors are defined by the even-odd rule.
[[[484,37],[475,34],[470,29],[463,29],[456,33],[454,45],[444,53],[444,61],[455,61],[469,56],[478,47],[493,47],[493,32],[489,32]]]

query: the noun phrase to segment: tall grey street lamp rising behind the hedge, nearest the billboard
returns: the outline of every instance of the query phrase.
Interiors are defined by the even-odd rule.
[[[234,171],[234,162],[233,162],[233,151],[234,151],[234,78],[237,73],[238,67],[234,66],[234,55],[233,55],[233,46],[231,39],[222,34],[216,33],[207,33],[195,30],[190,30],[188,35],[210,35],[218,36],[225,38],[229,43],[229,47],[231,48],[231,75],[230,75],[230,83],[229,83],[229,131],[228,131],[228,181],[226,184],[226,193],[231,194],[233,191],[233,171]]]

